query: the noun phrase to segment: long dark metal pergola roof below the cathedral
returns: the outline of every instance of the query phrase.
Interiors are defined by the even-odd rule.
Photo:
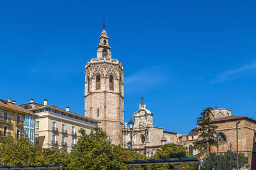
[[[129,161],[122,161],[122,162],[124,162],[124,164],[127,164],[129,166],[145,166],[145,165],[159,165],[159,164],[198,164],[198,169],[200,169],[200,164],[204,163],[204,160],[190,157],[190,158],[170,158],[170,159],[129,160]]]

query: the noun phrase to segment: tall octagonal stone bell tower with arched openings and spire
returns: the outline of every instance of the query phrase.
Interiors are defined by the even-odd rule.
[[[112,143],[122,145],[124,127],[124,68],[112,59],[103,25],[97,58],[85,66],[84,115],[99,120]]]

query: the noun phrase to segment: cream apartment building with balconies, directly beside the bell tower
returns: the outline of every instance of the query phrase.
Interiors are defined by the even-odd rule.
[[[54,105],[30,103],[20,105],[29,107],[28,110],[38,115],[35,121],[35,144],[42,148],[58,148],[70,152],[74,150],[77,139],[81,138],[79,129],[83,128],[86,134],[98,127],[98,120],[72,113],[69,107],[62,110]]]

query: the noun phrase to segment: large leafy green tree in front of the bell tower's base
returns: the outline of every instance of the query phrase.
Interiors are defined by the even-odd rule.
[[[83,129],[79,132],[76,151],[72,152],[71,169],[120,169],[118,153],[114,152],[114,145],[107,141],[106,133],[96,128],[94,132],[86,134]]]

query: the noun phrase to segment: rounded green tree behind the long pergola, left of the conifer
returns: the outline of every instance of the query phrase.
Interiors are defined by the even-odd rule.
[[[182,145],[175,145],[174,143],[168,143],[161,146],[161,149],[154,155],[154,159],[169,159],[169,158],[184,158],[191,157],[186,148]],[[197,169],[194,164],[181,164],[180,167],[184,169],[194,170]],[[152,166],[152,169],[174,169],[172,164]]]

